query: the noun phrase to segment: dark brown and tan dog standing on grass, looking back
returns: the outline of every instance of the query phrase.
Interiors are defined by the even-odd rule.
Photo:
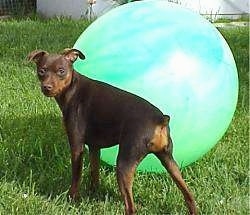
[[[63,114],[71,149],[70,197],[75,199],[78,194],[84,144],[89,148],[92,188],[99,184],[100,149],[119,144],[116,174],[125,214],[135,213],[134,173],[149,153],[170,173],[189,214],[197,214],[194,198],[172,157],[169,116],[136,95],[78,74],[72,66],[78,57],[85,58],[76,49],[65,49],[62,54],[35,50],[28,56],[37,65],[42,92],[56,99]]]

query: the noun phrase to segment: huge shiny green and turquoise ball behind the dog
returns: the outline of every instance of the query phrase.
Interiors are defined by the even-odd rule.
[[[173,154],[181,167],[208,152],[232,120],[238,97],[233,55],[195,12],[164,0],[128,3],[94,21],[74,47],[86,55],[74,64],[78,72],[171,116]],[[115,165],[116,155],[117,147],[104,149],[101,159]],[[152,154],[138,169],[164,171]]]

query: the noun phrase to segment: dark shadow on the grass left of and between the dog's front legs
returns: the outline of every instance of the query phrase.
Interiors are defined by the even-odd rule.
[[[36,115],[33,118],[2,120],[0,134],[4,151],[0,178],[33,186],[35,192],[42,196],[55,198],[62,193],[67,195],[71,183],[70,147],[60,116]],[[116,182],[113,168],[102,163],[101,184],[92,193],[89,191],[87,149],[83,162],[80,198],[105,201],[108,195],[119,201],[117,186],[113,186]],[[109,176],[109,181],[104,180],[105,175]]]

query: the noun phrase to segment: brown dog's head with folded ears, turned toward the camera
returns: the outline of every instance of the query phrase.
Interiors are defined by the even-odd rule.
[[[67,89],[72,81],[72,65],[78,57],[85,59],[77,49],[64,49],[62,54],[34,50],[28,55],[28,60],[37,65],[38,79],[45,96],[55,97]]]

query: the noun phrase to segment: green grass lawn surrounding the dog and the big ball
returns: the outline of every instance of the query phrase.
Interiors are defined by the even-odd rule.
[[[102,166],[101,186],[88,191],[88,159],[81,201],[67,200],[71,167],[61,114],[41,93],[33,49],[71,47],[89,23],[67,19],[0,21],[0,214],[123,214],[113,169]],[[234,119],[221,141],[183,170],[200,214],[249,214],[249,32],[221,30],[236,59],[240,95]],[[90,41],[91,42],[91,41]],[[138,214],[184,214],[182,195],[168,174],[136,175]]]

